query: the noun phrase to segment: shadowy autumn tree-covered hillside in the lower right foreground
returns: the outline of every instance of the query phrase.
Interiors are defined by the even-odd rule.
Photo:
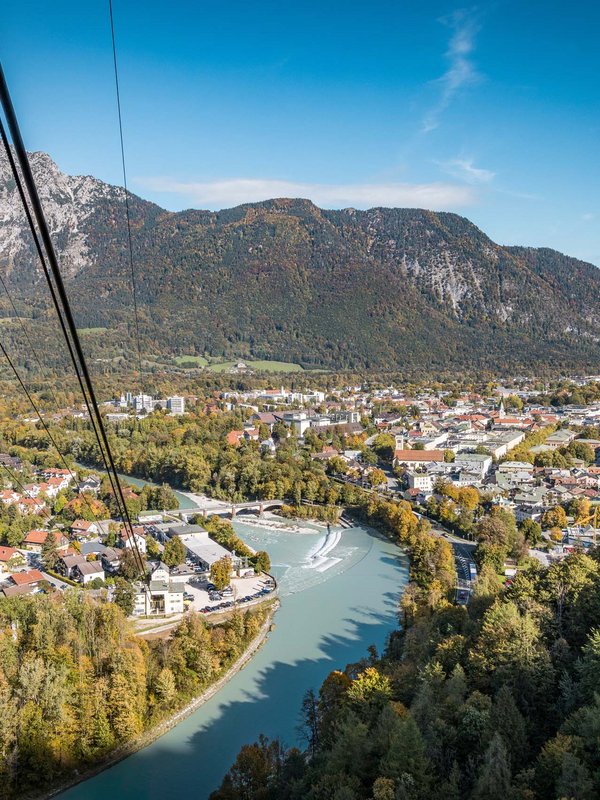
[[[531,560],[508,587],[484,566],[455,606],[447,544],[390,505],[370,517],[411,547],[401,628],[308,687],[305,749],[246,745],[211,800],[599,797],[599,551]]]

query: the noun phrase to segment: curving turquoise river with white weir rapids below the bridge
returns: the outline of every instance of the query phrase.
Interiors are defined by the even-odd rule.
[[[237,533],[271,555],[280,582],[275,629],[247,666],[207,703],[144,750],[61,794],[63,800],[205,800],[240,747],[260,733],[301,743],[304,692],[333,669],[381,648],[396,622],[408,562],[361,527],[312,534],[235,521]],[[339,535],[338,535],[339,534]]]

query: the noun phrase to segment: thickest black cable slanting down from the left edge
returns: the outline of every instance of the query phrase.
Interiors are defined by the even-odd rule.
[[[96,417],[97,430],[98,430],[98,432],[100,434],[102,444],[104,445],[104,447],[106,449],[106,457],[107,457],[108,462],[110,464],[110,468],[111,468],[112,473],[113,473],[113,477],[114,477],[114,480],[115,480],[116,488],[117,488],[117,491],[118,491],[118,494],[119,494],[119,498],[120,498],[120,501],[121,501],[121,504],[122,504],[122,508],[123,508],[123,511],[124,511],[124,519],[125,519],[126,527],[127,526],[129,527],[129,533],[130,533],[130,536],[131,536],[131,540],[132,540],[133,546],[134,546],[134,548],[135,548],[135,550],[137,552],[140,571],[142,571],[142,567],[143,567],[143,563],[144,562],[143,562],[141,553],[139,551],[139,548],[137,546],[137,542],[136,542],[136,539],[135,539],[135,534],[133,532],[133,525],[132,525],[131,518],[130,518],[130,515],[129,515],[129,510],[127,509],[127,505],[125,503],[125,497],[123,495],[123,489],[121,487],[121,484],[120,484],[120,481],[119,481],[119,477],[118,477],[118,474],[117,474],[117,469],[116,469],[116,466],[115,466],[115,462],[114,462],[114,458],[113,458],[113,455],[112,455],[112,451],[110,449],[108,436],[107,436],[106,430],[104,428],[104,424],[102,422],[102,417],[100,415],[100,409],[98,407],[98,402],[97,402],[96,395],[95,395],[95,392],[94,392],[94,387],[93,387],[93,384],[92,384],[91,376],[90,376],[90,373],[89,373],[89,370],[88,370],[88,366],[87,366],[87,363],[86,363],[86,360],[85,360],[85,356],[84,356],[84,353],[83,353],[83,348],[81,346],[81,341],[79,339],[79,334],[77,332],[77,326],[75,325],[75,320],[73,318],[73,312],[71,310],[71,306],[70,306],[70,303],[69,303],[69,298],[68,298],[66,290],[65,290],[65,285],[64,285],[64,281],[62,279],[62,275],[61,275],[61,272],[60,272],[60,267],[58,265],[58,259],[57,259],[57,256],[56,256],[56,251],[54,250],[54,245],[52,243],[52,238],[50,237],[50,231],[49,231],[49,228],[48,228],[48,223],[46,221],[46,217],[45,217],[45,214],[44,214],[44,209],[42,207],[42,203],[41,203],[38,191],[37,191],[37,186],[36,186],[35,180],[33,178],[33,174],[32,174],[32,171],[31,171],[31,166],[29,164],[29,159],[27,157],[27,151],[25,150],[25,145],[24,145],[24,142],[23,142],[23,138],[21,136],[21,132],[20,132],[20,129],[19,129],[19,124],[18,124],[18,121],[17,121],[17,117],[16,117],[16,114],[15,114],[15,110],[14,110],[13,104],[12,104],[10,93],[8,91],[8,86],[6,84],[6,79],[4,77],[4,71],[3,71],[1,65],[0,65],[0,100],[2,102],[2,107],[4,109],[4,114],[6,116],[8,127],[9,127],[9,130],[10,130],[10,133],[11,133],[13,145],[15,147],[15,152],[16,152],[17,158],[19,160],[19,165],[20,165],[21,171],[23,173],[23,179],[24,179],[25,185],[27,187],[27,191],[28,191],[28,194],[29,194],[29,200],[31,202],[33,213],[34,213],[34,216],[35,216],[36,221],[37,221],[39,233],[40,233],[43,245],[44,245],[44,250],[46,251],[46,255],[47,255],[48,261],[50,263],[50,270],[52,272],[52,276],[53,276],[54,282],[56,284],[56,290],[57,290],[58,296],[60,298],[62,311],[63,311],[64,316],[66,318],[66,327],[68,328],[68,331],[69,331],[71,339],[72,339],[72,346],[74,347],[75,352],[77,354],[77,358],[74,358],[74,357],[72,358],[73,365],[74,365],[76,371],[78,371],[77,361],[79,362],[79,368],[81,369],[81,372],[83,374],[83,382],[85,383],[85,387],[87,389],[88,396],[89,396],[89,403],[91,404],[93,412],[94,412],[94,415]],[[51,282],[50,282],[49,279],[48,279],[48,281],[49,281],[49,285],[51,285]],[[62,325],[64,326],[64,320],[62,321]],[[66,334],[65,334],[65,339],[66,339],[67,342],[69,342],[69,338],[68,338],[68,336],[66,336]],[[73,347],[69,347],[70,352],[72,352]],[[84,397],[85,397],[85,394],[84,394]],[[87,402],[87,400],[86,400],[86,402]],[[101,447],[101,449],[102,449],[102,447]],[[116,497],[116,495],[115,495],[115,497]]]

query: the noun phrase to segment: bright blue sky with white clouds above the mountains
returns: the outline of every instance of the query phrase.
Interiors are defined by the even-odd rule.
[[[456,211],[600,265],[600,4],[114,0],[129,183],[165,208]],[[26,144],[121,181],[107,0],[6,0]]]

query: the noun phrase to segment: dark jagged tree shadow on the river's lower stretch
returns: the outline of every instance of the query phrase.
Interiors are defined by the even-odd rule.
[[[375,624],[384,621],[389,623],[383,616]],[[374,626],[363,623],[353,627],[351,637],[321,639],[322,658],[293,664],[277,661],[262,670],[250,690],[239,699],[219,703],[217,718],[190,731],[176,747],[168,736],[163,737],[62,797],[204,800],[219,786],[240,747],[253,742],[260,733],[279,736],[287,745],[299,743],[297,728],[304,692],[309,688],[318,690],[331,670],[366,655]],[[190,720],[179,727],[189,727],[186,723]]]

